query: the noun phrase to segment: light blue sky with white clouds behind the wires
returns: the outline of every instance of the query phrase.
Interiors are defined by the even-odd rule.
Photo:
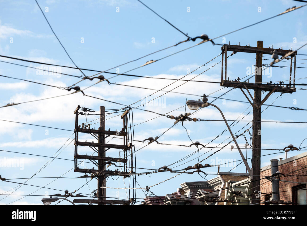
[[[52,31],[50,30],[45,18],[41,11],[33,1],[0,1],[0,54],[23,58],[31,61],[39,61],[45,63],[74,66],[65,54],[63,48],[56,40]],[[45,12],[45,16],[49,20],[53,30],[58,38],[66,48],[69,55],[72,57],[76,65],[80,68],[106,70],[116,65],[120,65],[127,61],[149,54],[151,52],[172,46],[186,37],[171,27],[157,15],[153,14],[145,6],[141,5],[138,1],[38,1],[41,8],[45,12],[45,7],[48,7],[49,12]],[[295,1],[178,1],[174,2],[165,1],[144,1],[149,7],[159,13],[162,17],[177,26],[180,30],[188,33],[191,37],[196,37],[201,34],[207,34],[209,38],[214,38],[236,30],[243,26],[261,21],[265,18],[277,15],[287,8],[292,6],[300,6],[300,2]],[[119,7],[119,8],[117,8]],[[187,12],[187,7],[190,7],[190,12]],[[261,7],[261,12],[259,11]],[[119,12],[116,10],[119,9]],[[283,49],[297,49],[307,42],[307,34],[304,29],[304,22],[306,21],[306,8],[295,10],[294,12],[287,13],[269,21],[260,23],[258,25],[249,27],[247,29],[235,32],[230,35],[218,38],[216,43],[223,43],[225,40],[230,44],[239,44],[255,46],[257,40],[263,41],[264,47]],[[152,42],[154,38],[154,43]],[[223,39],[225,38],[225,39]],[[12,41],[13,42],[12,42]],[[84,40],[84,42],[81,42]],[[296,43],[293,42],[296,40]],[[176,47],[169,48],[157,54],[145,57],[138,61],[118,67],[119,73],[123,73],[130,69],[143,65],[146,61],[156,60],[173,54],[177,51],[183,50],[189,46],[193,46],[196,42],[182,43]],[[145,67],[133,70],[129,73],[150,76],[150,77],[168,77],[180,78],[190,71],[200,67],[207,61],[218,56],[221,53],[220,46],[212,46],[210,42],[193,47],[189,50],[167,57],[161,61],[157,61]],[[299,53],[307,54],[307,48],[302,48]],[[27,66],[37,67],[41,66],[34,63],[26,63],[21,61],[14,61],[7,58],[0,57],[2,61],[9,61]],[[270,56],[266,56],[270,59]],[[300,59],[307,59],[306,56],[298,56]],[[214,61],[206,64],[200,69],[196,70],[186,78],[191,79],[204,70],[212,67],[214,64],[221,60],[221,56],[217,57]],[[263,63],[270,61],[264,60]],[[297,60],[297,63],[307,63],[307,60]],[[228,58],[227,61],[227,75],[231,79],[237,77],[245,77],[247,75],[247,68],[255,64],[255,54],[238,53]],[[280,62],[279,65],[289,66],[288,62]],[[304,67],[305,64],[297,64]],[[221,64],[212,67],[210,70],[199,75],[197,80],[204,81],[220,81]],[[305,68],[297,68],[296,78],[305,77]],[[110,72],[117,72],[116,69]],[[62,68],[62,73],[68,73],[80,76],[81,73],[75,69]],[[87,76],[94,73],[84,71]],[[36,69],[21,67],[0,62],[0,74],[10,77],[17,77],[28,79],[31,81],[67,87],[79,81],[79,78],[69,77],[65,75],[37,75]],[[110,74],[103,74],[106,78],[112,77]],[[289,69],[273,68],[271,71],[272,77],[262,77],[263,82],[267,81],[284,81],[289,79]],[[160,79],[146,79],[135,78],[128,76],[117,76],[110,79],[112,83],[119,83],[125,85],[135,85],[151,89],[161,89],[169,85],[173,81],[160,80]],[[95,83],[93,81],[82,81],[78,85],[84,89]],[[297,80],[297,83],[306,83],[306,79]],[[176,86],[183,84],[183,82],[176,82],[168,86],[164,90],[170,90]],[[222,87],[219,84],[211,83],[197,83],[188,82],[175,89],[176,92],[202,95],[210,94]],[[304,88],[304,87],[303,87]],[[6,105],[9,102],[24,102],[42,99],[46,97],[53,97],[57,95],[67,94],[66,90],[57,89],[54,87],[47,87],[43,85],[31,84],[25,81],[18,81],[9,78],[0,78],[1,100],[0,105]],[[211,96],[219,96],[227,91],[227,88],[215,92]],[[110,101],[119,102],[125,105],[130,105],[142,98],[153,93],[153,90],[138,89],[119,85],[108,85],[107,82],[101,82],[91,88],[88,88],[85,93],[91,96],[107,99]],[[279,97],[274,105],[286,107],[299,107],[306,109],[307,101],[305,97],[306,90],[298,90],[293,94],[283,94]],[[158,97],[163,92],[155,93],[152,97]],[[266,94],[263,94],[263,97]],[[278,93],[274,93],[267,101],[266,104],[271,104],[277,97]],[[236,99],[246,101],[245,97],[240,90],[231,90],[223,96],[228,99]],[[158,113],[167,113],[185,105],[185,99],[197,99],[195,96],[167,93],[159,97],[162,105],[141,106],[142,109],[151,110]],[[209,98],[212,101],[213,98]],[[133,106],[140,105],[141,101]],[[226,119],[234,120],[239,117],[248,107],[247,103],[240,103],[235,101],[216,100],[214,102],[218,105]],[[295,104],[296,103],[296,104]],[[77,105],[91,109],[99,109],[99,106],[105,106],[106,109],[118,108],[119,105],[110,102],[100,101],[90,97],[84,97],[81,93],[68,95],[65,97],[57,97],[44,101],[30,102],[15,106],[10,106],[0,109],[0,119],[19,121],[31,124],[45,125],[51,127],[58,127],[64,129],[74,129],[75,115],[73,114]],[[262,108],[264,109],[264,108]],[[180,108],[173,111],[172,115],[177,116],[184,113],[185,109]],[[247,109],[245,114],[251,111],[251,107]],[[187,109],[187,112],[191,112]],[[142,123],[154,117],[157,114],[144,112],[138,109],[133,110],[134,124]],[[243,115],[245,115],[243,114]],[[214,108],[205,108],[194,114],[194,117],[201,119],[222,119],[219,112]],[[80,116],[80,118],[82,118]],[[95,120],[97,116],[90,116],[88,120]],[[248,114],[243,120],[251,120],[252,113]],[[81,120],[81,119],[80,119]],[[85,120],[84,117],[82,120]],[[262,113],[262,120],[265,121],[306,121],[305,111],[294,111],[290,109],[269,107]],[[94,122],[93,122],[94,123]],[[148,122],[144,122],[134,127],[135,139],[144,140],[148,137],[156,137],[169,129],[174,123],[166,117],[158,117]],[[247,122],[239,122],[232,131],[236,134],[243,133],[244,130],[250,128],[251,124],[245,126]],[[221,131],[226,129],[224,122],[193,122],[185,121],[185,127],[190,131],[192,141],[199,141],[202,144],[207,144],[213,138],[220,134]],[[98,128],[98,123],[95,124]],[[245,127],[243,127],[245,126]],[[122,121],[119,117],[114,117],[106,121],[106,128],[111,130],[121,129]],[[242,129],[243,128],[243,129]],[[36,127],[31,125],[22,125],[11,122],[2,121],[2,129],[0,130],[0,149],[31,153],[37,155],[52,156],[56,153],[65,141],[72,135],[70,131],[48,129],[43,127]],[[299,146],[301,141],[306,137],[306,126],[304,124],[282,124],[282,123],[262,123],[262,148],[282,149],[289,144]],[[46,135],[48,134],[48,135]],[[248,133],[245,133],[248,137]],[[89,136],[80,135],[80,138],[91,139]],[[227,144],[231,139],[228,139],[230,134],[226,131],[222,136],[218,137],[215,141],[211,142],[208,146],[219,147]],[[73,138],[73,137],[72,137]],[[68,143],[72,140],[69,139]],[[226,141],[224,141],[227,139]],[[120,144],[119,139],[113,139],[112,142]],[[185,129],[178,124],[161,136],[158,140],[161,143],[190,145]],[[238,138],[240,146],[244,146],[245,140],[243,137]],[[64,145],[64,147],[66,147]],[[141,145],[141,146],[139,146]],[[230,145],[234,145],[232,142]],[[227,147],[230,147],[228,145]],[[136,146],[141,148],[144,146],[142,143],[136,142]],[[304,146],[304,144],[302,145]],[[64,148],[63,147],[63,148]],[[62,149],[63,149],[62,148]],[[62,151],[60,149],[60,151]],[[83,148],[80,150],[90,153],[90,148]],[[195,147],[179,147],[170,145],[157,145],[152,143],[136,153],[137,167],[158,169],[163,165],[170,165],[175,161],[187,156],[188,154],[197,150]],[[210,149],[206,148],[205,151]],[[60,152],[59,151],[59,152]],[[59,153],[58,152],[58,153]],[[262,150],[262,155],[273,153],[276,151]],[[57,154],[58,154],[57,153]],[[200,151],[200,157],[203,159],[212,154],[209,151],[204,154]],[[296,155],[297,152],[289,153],[289,156]],[[72,159],[74,156],[73,142],[64,149],[58,156],[59,158]],[[110,151],[107,156],[117,157],[118,150]],[[247,156],[251,157],[251,150],[247,151]],[[183,169],[189,165],[197,163],[197,154],[192,155],[187,160],[178,163],[175,169]],[[270,159],[283,157],[284,154],[275,154],[262,157],[262,166],[269,165]],[[218,160],[232,159],[240,160],[240,155],[236,149],[223,149],[220,152],[209,157],[203,163],[212,164],[216,158]],[[17,153],[1,153],[1,159],[11,160],[17,159],[24,163],[23,167],[2,167],[0,174],[5,178],[25,178],[31,177],[48,161],[45,157],[35,157],[30,155],[22,155]],[[192,160],[194,159],[194,160]],[[192,160],[192,161],[190,161]],[[190,162],[188,162],[190,161]],[[154,163],[154,165],[153,165]],[[50,164],[41,170],[34,177],[58,177],[68,171],[65,177],[77,177],[83,175],[82,173],[73,172],[73,161],[66,161],[55,159]],[[173,165],[176,166],[176,165]],[[23,168],[23,169],[20,169]],[[110,167],[112,170],[115,167]],[[227,172],[231,167],[221,167],[220,171]],[[70,171],[69,171],[70,170]],[[145,170],[146,171],[146,170]],[[204,170],[207,173],[216,173],[217,168],[209,168]],[[139,169],[138,172],[144,172]],[[241,164],[231,172],[245,172],[244,165]],[[164,181],[176,174],[169,172],[161,172],[152,175],[137,176],[137,181],[141,187],[146,185],[151,186],[158,182]],[[206,179],[215,177],[215,175],[208,175]],[[123,188],[124,182],[122,178],[119,180],[115,177],[107,181],[107,187]],[[117,179],[117,180],[116,180]],[[31,179],[27,183],[37,186],[45,186],[54,179]],[[161,183],[152,187],[150,190],[157,195],[165,195],[175,192],[180,184],[185,181],[199,181],[203,180],[199,175],[181,174],[171,180]],[[14,180],[16,182],[24,182],[25,180]],[[46,187],[56,188],[60,190],[74,191],[81,185],[86,183],[86,179],[57,179]],[[129,179],[125,179],[125,184],[128,186]],[[17,186],[17,184],[1,182],[0,193],[9,191]],[[96,180],[85,185],[78,192],[91,193],[92,190],[97,188]],[[23,185],[14,194],[30,194],[38,188]],[[117,197],[118,190],[107,189],[108,197]],[[37,195],[51,195],[55,193],[64,193],[51,189],[42,188],[33,194]],[[6,194],[6,193],[5,193]],[[21,196],[22,197],[22,196]],[[119,191],[119,197],[126,197],[125,190]],[[144,193],[141,189],[137,190],[137,198],[143,198]],[[0,197],[1,199],[2,197]],[[9,196],[0,201],[0,204],[8,204],[12,201],[19,199],[20,196]],[[41,204],[41,197],[27,196],[12,204]],[[62,203],[60,203],[62,204]]]

